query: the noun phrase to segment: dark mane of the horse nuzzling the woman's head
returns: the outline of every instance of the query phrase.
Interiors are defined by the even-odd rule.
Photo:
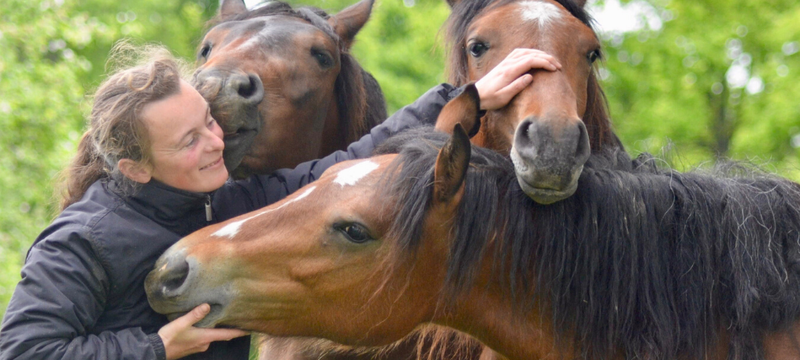
[[[339,109],[339,129],[346,144],[354,142],[370,129],[386,120],[386,99],[375,78],[358,64],[345,43],[340,40],[327,20],[330,15],[322,9],[305,6],[292,8],[282,1],[270,1],[255,9],[235,16],[217,15],[206,24],[210,29],[216,25],[253,19],[262,16],[290,16],[307,21],[322,30],[339,46],[341,70],[334,85]]]

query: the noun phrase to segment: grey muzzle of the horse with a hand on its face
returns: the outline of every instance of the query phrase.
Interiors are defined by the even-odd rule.
[[[579,119],[531,117],[517,126],[510,155],[522,191],[546,205],[575,193],[590,154],[589,135]]]

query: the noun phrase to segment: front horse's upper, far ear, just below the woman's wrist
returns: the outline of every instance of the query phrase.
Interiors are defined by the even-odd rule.
[[[469,129],[469,137],[475,136],[481,127],[481,97],[475,83],[464,87],[455,99],[450,100],[439,117],[436,118],[436,130],[450,132],[455,124],[461,124],[464,129]]]

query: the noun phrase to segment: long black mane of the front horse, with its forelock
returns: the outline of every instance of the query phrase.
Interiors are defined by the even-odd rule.
[[[400,154],[386,179],[401,258],[414,256],[430,208],[446,138],[430,132],[378,150]],[[764,333],[800,316],[798,204],[800,185],[748,166],[678,173],[612,149],[590,158],[572,197],[540,205],[508,159],[473,146],[445,301],[491,255],[515,306],[539,306],[583,358],[703,358],[723,329],[729,359],[763,358]]]

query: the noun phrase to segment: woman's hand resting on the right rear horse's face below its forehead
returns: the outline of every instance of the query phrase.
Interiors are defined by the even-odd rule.
[[[536,49],[514,49],[503,61],[475,83],[482,110],[506,106],[511,98],[530,85],[531,69],[556,71],[561,64],[551,55]]]

